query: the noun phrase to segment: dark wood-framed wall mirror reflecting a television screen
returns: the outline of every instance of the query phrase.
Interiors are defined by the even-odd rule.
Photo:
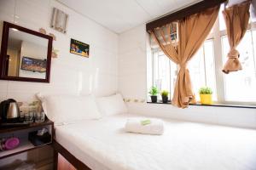
[[[3,22],[0,79],[49,82],[53,38]]]

